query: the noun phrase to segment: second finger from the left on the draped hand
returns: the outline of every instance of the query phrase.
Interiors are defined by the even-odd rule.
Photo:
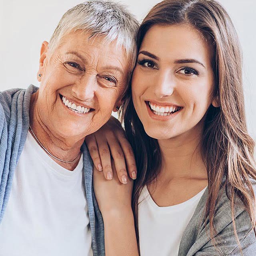
[[[95,135],[95,138],[98,145],[104,176],[107,180],[112,180],[113,172],[111,168],[111,157],[108,142],[103,136]]]

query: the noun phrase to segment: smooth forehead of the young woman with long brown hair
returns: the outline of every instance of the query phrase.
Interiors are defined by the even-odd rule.
[[[200,32],[188,25],[152,26],[143,38],[140,50],[161,58],[196,58],[208,62],[212,49]]]

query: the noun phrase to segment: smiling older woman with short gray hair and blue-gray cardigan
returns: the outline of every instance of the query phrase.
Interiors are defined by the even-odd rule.
[[[1,255],[104,255],[104,232],[118,242],[104,231],[83,143],[120,106],[137,28],[118,4],[79,4],[42,44],[40,88],[0,94]]]

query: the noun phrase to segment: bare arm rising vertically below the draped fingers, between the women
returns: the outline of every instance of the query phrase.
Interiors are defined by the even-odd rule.
[[[138,246],[131,207],[132,180],[121,184],[113,167],[113,179],[107,181],[94,168],[94,192],[104,220],[106,256],[137,256]]]

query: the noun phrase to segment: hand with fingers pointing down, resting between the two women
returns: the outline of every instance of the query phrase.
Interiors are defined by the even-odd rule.
[[[133,150],[116,118],[111,117],[100,130],[86,136],[85,140],[94,166],[98,171],[103,170],[107,180],[113,177],[111,157],[121,183],[126,184],[128,176],[136,179],[137,169]]]

